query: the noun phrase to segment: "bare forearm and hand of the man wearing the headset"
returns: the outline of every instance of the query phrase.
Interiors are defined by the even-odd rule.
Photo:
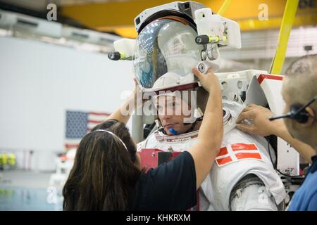
[[[316,155],[316,151],[306,143],[294,139],[282,120],[268,120],[272,116],[273,113],[267,108],[250,104],[247,108],[244,108],[237,118],[237,129],[254,135],[269,136],[273,134],[278,136],[289,143],[305,160],[311,163],[311,157]],[[242,124],[243,120],[250,120],[251,124]]]

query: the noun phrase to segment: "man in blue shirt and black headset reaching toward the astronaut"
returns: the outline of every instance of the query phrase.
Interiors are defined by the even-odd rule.
[[[286,104],[286,114],[271,119],[285,118],[284,123],[268,120],[272,113],[259,105],[244,108],[237,119],[237,128],[242,131],[262,136],[275,134],[290,143],[299,153],[306,156],[306,159],[314,155],[304,183],[294,194],[289,210],[317,210],[316,65],[317,54],[303,56],[292,63],[285,72],[282,96]],[[244,119],[251,119],[253,124],[240,124]]]

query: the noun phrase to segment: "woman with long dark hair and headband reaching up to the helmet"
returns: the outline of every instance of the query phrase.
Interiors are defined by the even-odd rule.
[[[209,174],[223,137],[219,80],[193,69],[209,100],[199,142],[177,158],[144,173],[128,128],[134,95],[106,122],[80,141],[73,169],[63,188],[63,210],[187,210],[196,204],[196,190]],[[133,104],[132,104],[133,105]],[[212,134],[212,138],[211,138]]]

